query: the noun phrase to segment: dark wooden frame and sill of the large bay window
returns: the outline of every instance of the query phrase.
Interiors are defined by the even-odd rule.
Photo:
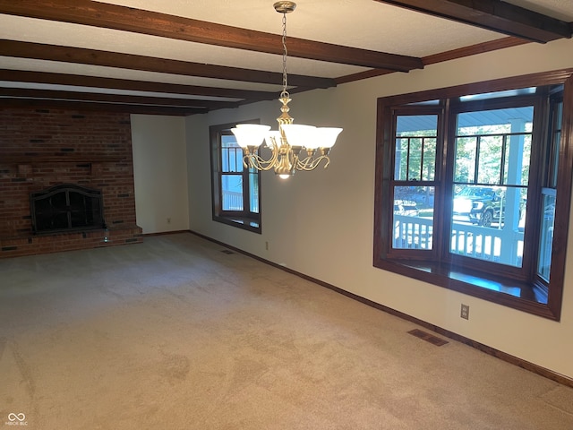
[[[430,259],[429,262],[420,259],[419,255],[415,253],[417,250],[413,250],[414,252],[412,253],[408,252],[408,250],[399,250],[398,254],[401,254],[401,258],[394,258],[395,256],[389,252],[391,247],[389,245],[391,242],[389,239],[389,223],[391,222],[391,209],[394,206],[393,204],[389,204],[389,202],[391,202],[391,193],[389,192],[388,185],[390,180],[389,176],[394,173],[393,159],[390,156],[392,152],[389,148],[395,144],[392,135],[393,116],[391,110],[395,107],[407,108],[407,106],[420,104],[428,100],[450,100],[469,94],[550,85],[563,85],[563,110],[559,145],[560,162],[559,171],[557,172],[558,197],[555,205],[554,219],[555,231],[559,233],[553,236],[551,281],[545,286],[545,289],[543,290],[543,285],[540,283],[532,281],[533,276],[530,276],[527,280],[521,280],[515,276],[505,276],[504,273],[475,271],[470,265],[464,264],[463,259],[451,259],[448,261],[443,258],[443,249],[437,249],[435,254],[438,256],[433,261]],[[449,103],[449,101],[443,101],[442,106],[443,103]],[[433,109],[433,112],[436,112],[436,108]],[[443,114],[443,112],[441,113]],[[443,130],[438,131],[439,135],[440,133],[442,133],[441,138],[447,142],[448,133],[451,133],[451,126],[448,127],[446,125]],[[539,131],[537,131],[537,133],[539,133]],[[378,99],[376,140],[373,245],[373,265],[375,267],[396,272],[416,280],[422,280],[432,285],[456,290],[470,296],[483,298],[530,314],[556,321],[560,320],[569,230],[571,171],[573,170],[573,69],[535,73]],[[444,144],[444,147],[445,146]],[[445,175],[451,172],[451,161],[449,162],[446,156],[448,156],[447,153],[436,154],[436,178],[445,177]],[[531,175],[541,176],[542,172],[534,172]],[[440,186],[439,180],[436,181],[436,184]],[[440,204],[442,208],[448,204],[448,197],[445,194],[446,193],[443,192],[440,193],[442,199]],[[447,211],[444,213],[446,212]],[[529,217],[529,213],[527,216]],[[442,221],[437,227],[434,227],[439,230],[437,235],[443,237],[444,231],[447,233],[448,222],[449,221]],[[444,227],[444,225],[446,227]],[[531,234],[533,228],[529,230]],[[535,232],[533,234],[536,235]],[[406,260],[405,257],[412,258]],[[528,264],[533,270],[535,262],[528,262]],[[477,264],[477,266],[479,269],[480,264]],[[496,288],[484,288],[480,286],[483,285],[483,283],[495,284],[501,288],[500,290],[496,290]],[[517,288],[519,293],[503,293],[501,291],[504,287]]]

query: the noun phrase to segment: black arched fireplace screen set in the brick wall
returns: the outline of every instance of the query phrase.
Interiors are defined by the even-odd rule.
[[[34,233],[106,228],[101,191],[63,184],[30,194]]]

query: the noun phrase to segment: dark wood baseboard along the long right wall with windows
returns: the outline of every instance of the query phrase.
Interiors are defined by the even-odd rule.
[[[361,302],[364,305],[372,306],[378,310],[386,312],[387,314],[392,314],[392,315],[398,316],[399,318],[402,318],[403,320],[421,325],[423,328],[425,328],[427,330],[434,331],[434,332],[439,333],[440,335],[445,336],[451,340],[457,340],[458,342],[464,343],[464,344],[466,344],[472,348],[479,349],[480,351],[484,352],[485,354],[489,354],[490,356],[500,358],[500,360],[506,361],[506,362],[508,362],[514,366],[519,366],[519,367],[526,369],[527,371],[532,372],[534,374],[539,374],[539,375],[541,375],[547,379],[555,381],[556,383],[560,383],[562,385],[573,388],[573,379],[569,378],[569,376],[566,376],[564,374],[558,374],[557,372],[553,372],[552,370],[546,369],[545,367],[537,366],[537,365],[530,363],[526,360],[523,360],[519,357],[512,356],[512,355],[507,354],[505,352],[502,352],[496,348],[488,347],[487,345],[483,345],[483,343],[468,339],[468,338],[461,336],[458,333],[455,333],[453,331],[442,329],[441,327],[434,325],[434,324],[431,324],[431,323],[426,323],[425,321],[420,320],[418,318],[415,318],[414,316],[404,314],[403,312],[397,311],[396,309],[392,309],[391,307],[381,305],[380,303],[373,302],[372,300],[369,300],[369,299],[364,298],[364,297],[357,296],[354,293],[346,291],[345,289],[338,288],[338,287],[331,285],[327,282],[324,282],[322,280],[317,280],[315,278],[312,278],[311,276],[305,275],[304,273],[300,273],[298,271],[294,271],[292,269],[289,269],[285,266],[281,266],[280,264],[278,264],[276,262],[270,262],[269,260],[265,260],[264,258],[262,258],[258,255],[247,253],[246,251],[244,251],[242,249],[236,248],[235,246],[232,246],[232,245],[227,245],[223,242],[218,241],[217,239],[213,239],[212,237],[201,235],[201,233],[197,233],[197,232],[192,231],[192,230],[189,230],[189,233],[192,233],[195,236],[200,236],[201,238],[209,240],[210,242],[213,242],[215,244],[225,246],[228,249],[232,249],[233,251],[235,251],[237,253],[247,255],[247,256],[249,256],[255,260],[258,260],[260,262],[264,262],[266,264],[269,264],[270,266],[276,267],[277,269],[280,269],[281,271],[287,271],[288,273],[291,273],[295,276],[298,276],[299,278],[302,278],[304,280],[309,280],[309,281],[311,281],[317,285],[320,285],[321,287],[329,288],[333,291],[336,291],[339,294],[342,294],[343,296],[346,296],[346,297],[352,298],[358,302]]]

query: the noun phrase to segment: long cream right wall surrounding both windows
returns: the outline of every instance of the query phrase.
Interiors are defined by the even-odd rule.
[[[208,127],[260,117],[276,128],[278,101],[189,117],[191,229],[573,378],[572,271],[566,273],[557,323],[372,266],[376,99],[573,67],[571,53],[573,39],[528,44],[295,94],[290,104],[295,122],[337,125],[344,131],[327,170],[299,172],[287,181],[263,174],[261,235],[211,220]],[[570,228],[569,248],[572,235]],[[568,255],[569,267],[573,249]],[[471,306],[469,321],[459,317],[462,302]]]

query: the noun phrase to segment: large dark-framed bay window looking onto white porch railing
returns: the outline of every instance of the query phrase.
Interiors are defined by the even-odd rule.
[[[379,99],[374,265],[559,320],[571,74]]]

